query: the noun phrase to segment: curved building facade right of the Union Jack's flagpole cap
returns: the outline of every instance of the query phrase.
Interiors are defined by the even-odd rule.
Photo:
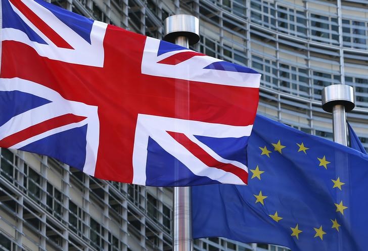
[[[262,73],[261,114],[332,139],[321,90],[353,86],[347,118],[367,148],[368,7],[354,2],[199,1],[188,9],[202,21],[201,51]]]

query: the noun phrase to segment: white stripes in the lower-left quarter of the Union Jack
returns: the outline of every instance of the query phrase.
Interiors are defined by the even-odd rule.
[[[36,107],[11,118],[0,127],[0,139],[24,130],[32,125],[44,122],[65,114],[86,117],[83,121],[70,123],[47,132],[32,136],[12,146],[20,148],[41,138],[59,133],[72,128],[88,124],[86,132],[86,157],[83,172],[94,175],[96,170],[97,154],[100,140],[100,121],[98,107],[83,104],[81,102],[68,101],[58,92],[21,78],[0,78],[0,91],[22,91],[51,101],[51,103]]]

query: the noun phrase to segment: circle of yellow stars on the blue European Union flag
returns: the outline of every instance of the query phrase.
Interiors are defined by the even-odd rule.
[[[284,148],[286,148],[287,146],[282,145],[281,140],[279,140],[277,143],[271,143],[273,146],[273,150],[274,152],[278,152],[280,154],[283,154],[282,150]],[[307,150],[309,150],[309,147],[306,147],[304,145],[303,142],[301,143],[296,143],[298,148],[298,153],[302,152],[305,155],[307,155]],[[273,153],[271,150],[267,149],[266,145],[263,147],[259,147],[259,149],[261,149],[261,156],[265,155],[268,158],[270,158],[270,154]],[[329,162],[326,159],[326,155],[324,155],[322,158],[317,158],[317,160],[319,161],[319,165],[318,167],[324,167],[326,170],[328,169],[328,165],[331,164],[331,162]],[[253,178],[257,178],[258,180],[261,180],[261,175],[265,172],[259,169],[258,165],[256,166],[255,169],[250,169],[250,171],[252,172],[252,177]],[[333,187],[332,188],[338,188],[340,190],[342,190],[342,185],[345,185],[344,182],[340,181],[340,177],[337,177],[336,180],[331,179],[331,181],[333,182]],[[256,201],[255,203],[260,203],[262,206],[264,206],[264,200],[268,197],[264,194],[262,194],[262,190],[259,191],[258,194],[253,194],[256,197]],[[336,212],[341,213],[341,215],[344,215],[344,210],[346,210],[348,207],[343,205],[342,200],[340,201],[339,204],[334,203],[336,206]],[[281,217],[278,213],[278,211],[275,211],[275,213],[269,214],[268,215],[272,220],[274,220],[275,222],[279,222],[283,219],[283,217]],[[336,229],[337,232],[339,232],[339,227],[341,227],[341,225],[337,222],[337,219],[335,218],[334,220],[331,219],[332,222],[332,227],[333,229]],[[299,229],[299,224],[297,223],[295,227],[290,227],[292,233],[291,236],[295,236],[296,239],[299,240],[299,234],[301,234],[303,232],[303,230]],[[315,231],[315,235],[314,238],[319,237],[321,240],[323,240],[323,237],[325,234],[327,234],[324,230],[323,230],[323,226],[320,225],[319,228],[313,228]]]

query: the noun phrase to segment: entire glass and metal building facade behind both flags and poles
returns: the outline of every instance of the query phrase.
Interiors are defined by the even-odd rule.
[[[330,84],[354,87],[347,114],[368,148],[368,1],[51,0],[86,17],[162,38],[173,14],[200,19],[193,48],[262,74],[258,113],[332,139]],[[356,3],[358,2],[358,3]],[[54,159],[1,149],[0,250],[171,250],[172,188],[98,180]],[[273,250],[222,238],[195,250]]]

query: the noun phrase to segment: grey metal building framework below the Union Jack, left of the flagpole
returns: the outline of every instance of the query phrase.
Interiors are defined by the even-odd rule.
[[[171,188],[99,180],[3,148],[0,201],[5,250],[171,250]]]

